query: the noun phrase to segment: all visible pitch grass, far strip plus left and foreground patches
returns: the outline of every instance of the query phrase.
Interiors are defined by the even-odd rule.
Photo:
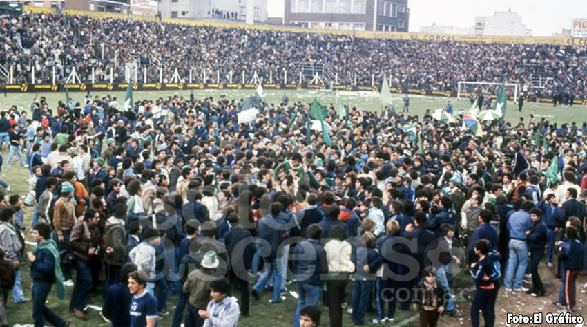
[[[254,90],[247,90],[247,91],[195,91],[195,97],[200,99],[204,97],[214,97],[214,99],[218,99],[220,95],[226,94],[229,100],[235,99],[240,100],[244,97],[247,97],[253,94]],[[279,104],[281,102],[281,98],[284,93],[287,93],[290,103],[291,102],[311,102],[314,98],[317,98],[320,102],[325,105],[329,105],[334,103],[334,92],[333,91],[305,91],[305,90],[294,90],[294,91],[265,91],[264,92],[264,100],[269,102],[270,104]],[[113,92],[110,93],[111,95],[118,98],[118,102],[124,102],[124,92]],[[173,96],[174,94],[189,98],[190,91],[160,91],[160,92],[149,92],[149,91],[142,91],[142,92],[135,92],[133,93],[133,98],[135,101],[147,99],[147,100],[156,100],[159,97],[166,98],[169,96]],[[70,93],[70,96],[73,98],[73,101],[80,102],[83,104],[84,102],[84,95],[86,93]],[[106,95],[106,93],[92,93],[93,96],[99,95],[102,97]],[[0,95],[0,109],[1,110],[8,110],[8,108],[12,105],[16,105],[19,109],[24,109],[26,111],[30,111],[30,104],[35,97],[46,97],[50,108],[55,109],[57,106],[57,102],[59,100],[65,101],[65,94],[64,93],[8,93],[5,95]],[[403,95],[393,95],[394,96],[394,106],[396,106],[396,111],[401,111],[403,107]],[[377,93],[347,93],[341,92],[340,97],[345,104],[349,104],[350,106],[356,106],[360,110],[367,110],[367,111],[381,111],[381,102],[379,101],[379,97]],[[431,109],[434,111],[438,108],[444,108],[446,102],[450,100],[455,110],[461,109],[468,109],[470,107],[470,102],[466,99],[456,101],[456,99],[449,99],[445,97],[422,97],[416,95],[410,95],[410,115],[420,115],[422,117],[427,109]],[[582,122],[587,122],[587,113],[586,106],[573,106],[573,107],[559,107],[553,108],[550,104],[534,104],[534,103],[526,103],[523,108],[523,112],[519,113],[517,104],[513,102],[508,103],[508,110],[506,114],[506,120],[509,122],[518,122],[519,117],[523,116],[525,120],[528,120],[530,113],[535,115],[537,120],[541,116],[546,116],[550,122],[557,122],[562,124],[564,122],[577,122],[578,125],[581,125]],[[8,158],[8,153],[5,149],[2,149],[2,155],[5,158]],[[13,165],[11,167],[3,166],[3,171],[1,172],[1,178],[5,180],[9,185],[11,185],[10,194],[19,194],[21,196],[26,196],[28,193],[28,170],[21,167],[17,163],[17,159],[13,159]],[[6,162],[5,162],[6,164]],[[32,221],[32,207],[26,207],[25,209],[25,223],[27,227],[30,227]],[[26,237],[28,241],[32,241],[30,234]],[[27,246],[27,251],[30,250],[30,246]],[[26,297],[31,297],[31,280],[30,280],[30,273],[29,273],[29,263],[28,260],[24,260],[21,264],[21,274],[22,274],[22,286],[25,292]],[[457,292],[457,299],[456,304],[457,306],[461,306],[461,308],[467,308],[470,303],[470,294],[472,291],[472,281],[467,274],[462,274],[455,280],[455,288],[461,290],[461,293]],[[289,286],[290,290],[296,290],[295,284],[291,284]],[[78,320],[74,317],[73,313],[68,310],[70,294],[73,288],[66,288],[66,299],[59,300],[55,295],[55,287],[52,288],[50,292],[50,296],[48,298],[48,307],[52,310],[55,310],[58,315],[64,317],[67,321],[71,321],[72,326],[98,326],[98,327],[106,327],[110,326],[110,324],[104,322],[102,318],[99,317],[97,311],[93,309],[89,309],[86,315],[86,321]],[[236,291],[233,295],[240,297],[240,292]],[[282,303],[270,304],[268,300],[270,298],[269,292],[262,292],[260,301],[256,301],[251,297],[251,316],[247,318],[241,318],[238,322],[238,326],[241,327],[286,327],[291,326],[293,324],[294,319],[294,312],[296,310],[297,301],[292,297],[289,293],[286,295],[287,299]],[[347,296],[345,297],[346,302],[350,305],[352,298],[352,283],[349,283],[347,287]],[[167,310],[170,312],[170,315],[164,317],[161,321],[159,321],[158,326],[162,327],[169,327],[171,326],[171,320],[173,319],[173,308],[175,306],[175,302],[177,301],[177,295],[170,295],[169,301],[167,303]],[[95,306],[102,306],[102,297],[99,293],[94,293],[90,300],[91,304]],[[320,307],[323,308],[323,316],[321,319],[320,326],[328,326],[328,310],[323,306],[322,301],[320,301]],[[128,308],[121,308],[121,310],[128,310]],[[8,314],[8,323],[9,326],[14,324],[32,324],[32,303],[26,304],[15,304],[12,295],[9,296],[8,303],[7,303],[7,314]],[[461,313],[463,315],[464,321],[459,321],[458,319],[449,319],[447,317],[441,319],[441,326],[463,326],[463,322],[468,324],[468,311],[463,311]],[[366,319],[371,319],[374,317],[373,312],[367,313]],[[418,319],[417,313],[414,311],[403,311],[397,310],[395,315],[395,323],[393,326],[418,326]],[[352,317],[350,315],[344,314],[343,317],[343,326],[350,327],[354,326],[352,323]]]

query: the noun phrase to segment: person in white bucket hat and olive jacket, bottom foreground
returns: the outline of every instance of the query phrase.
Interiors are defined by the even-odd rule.
[[[188,313],[186,315],[186,326],[199,327],[204,324],[204,317],[198,315],[198,311],[208,308],[210,300],[210,284],[215,276],[215,270],[220,261],[216,252],[208,251],[200,263],[200,268],[189,273],[184,283],[183,291],[188,297]]]

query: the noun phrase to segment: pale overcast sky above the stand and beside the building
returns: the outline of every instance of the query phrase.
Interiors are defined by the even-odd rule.
[[[268,17],[282,17],[285,1],[267,0]],[[570,28],[573,18],[587,18],[585,0],[408,0],[410,32],[432,23],[469,27],[475,16],[491,16],[495,11],[512,11],[521,16],[532,35],[552,35]]]

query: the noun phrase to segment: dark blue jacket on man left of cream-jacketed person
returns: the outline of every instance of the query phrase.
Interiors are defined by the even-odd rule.
[[[298,256],[294,271],[299,283],[321,286],[320,274],[328,272],[326,251],[318,240],[306,239],[296,245],[294,253]]]

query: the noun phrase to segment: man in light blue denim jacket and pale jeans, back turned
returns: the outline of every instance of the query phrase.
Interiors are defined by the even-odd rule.
[[[510,216],[508,230],[510,231],[509,259],[506,277],[503,279],[503,287],[506,291],[512,290],[512,279],[514,279],[514,290],[525,290],[522,288],[522,279],[528,265],[528,243],[526,242],[526,231],[532,227],[530,210],[534,203],[525,200],[521,208]]]

